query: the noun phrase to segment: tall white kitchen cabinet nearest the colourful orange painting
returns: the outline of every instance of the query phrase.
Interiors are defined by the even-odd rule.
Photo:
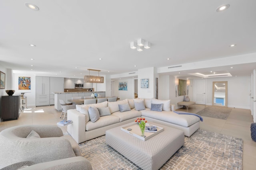
[[[50,105],[50,77],[36,76],[36,106]]]

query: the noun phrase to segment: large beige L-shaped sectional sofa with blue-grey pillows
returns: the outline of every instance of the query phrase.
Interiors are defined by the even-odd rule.
[[[122,107],[127,105],[130,108],[126,108],[127,111],[125,111],[125,109],[123,110]],[[161,107],[162,111],[151,110],[151,106],[156,106],[157,109]],[[88,112],[89,107],[96,107],[99,111],[104,110],[108,113],[102,113],[103,116],[98,117],[98,120],[95,121],[94,117]],[[93,119],[90,119],[90,117]],[[68,110],[67,119],[73,121],[71,125],[68,125],[68,133],[70,133],[77,143],[82,143],[105,135],[108,129],[130,123],[134,121],[136,117],[145,117],[149,122],[160,123],[183,130],[185,136],[188,137],[190,137],[200,125],[200,118],[197,116],[180,115],[171,111],[170,100],[136,98],[117,102],[76,105],[76,109]]]

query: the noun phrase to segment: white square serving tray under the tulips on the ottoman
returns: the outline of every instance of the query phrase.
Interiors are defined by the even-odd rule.
[[[146,123],[146,126],[156,126],[156,125]],[[127,130],[128,128],[131,128],[132,130],[128,131]],[[146,141],[146,140],[152,138],[153,136],[156,136],[158,133],[161,133],[162,131],[164,131],[163,127],[156,126],[156,129],[157,129],[157,132],[144,132],[144,135],[146,137],[142,137],[141,136],[141,131],[140,131],[140,126],[135,122],[132,123],[132,124],[129,124],[129,125],[124,125],[123,127],[121,127],[122,131],[124,131],[124,132],[138,138],[138,139],[141,139],[142,141]]]

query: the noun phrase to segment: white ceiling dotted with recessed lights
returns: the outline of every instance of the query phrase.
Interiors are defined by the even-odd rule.
[[[230,7],[216,12],[222,4]],[[255,7],[256,0],[1,0],[0,62],[14,72],[82,77],[88,68],[120,74],[255,53]],[[139,38],[151,48],[130,49]],[[168,74],[249,76],[256,63],[236,66]]]

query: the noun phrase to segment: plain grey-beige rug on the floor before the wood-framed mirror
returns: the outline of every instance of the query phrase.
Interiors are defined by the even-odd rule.
[[[196,114],[226,120],[231,110],[232,108],[228,107],[208,106],[205,109],[198,111]]]

